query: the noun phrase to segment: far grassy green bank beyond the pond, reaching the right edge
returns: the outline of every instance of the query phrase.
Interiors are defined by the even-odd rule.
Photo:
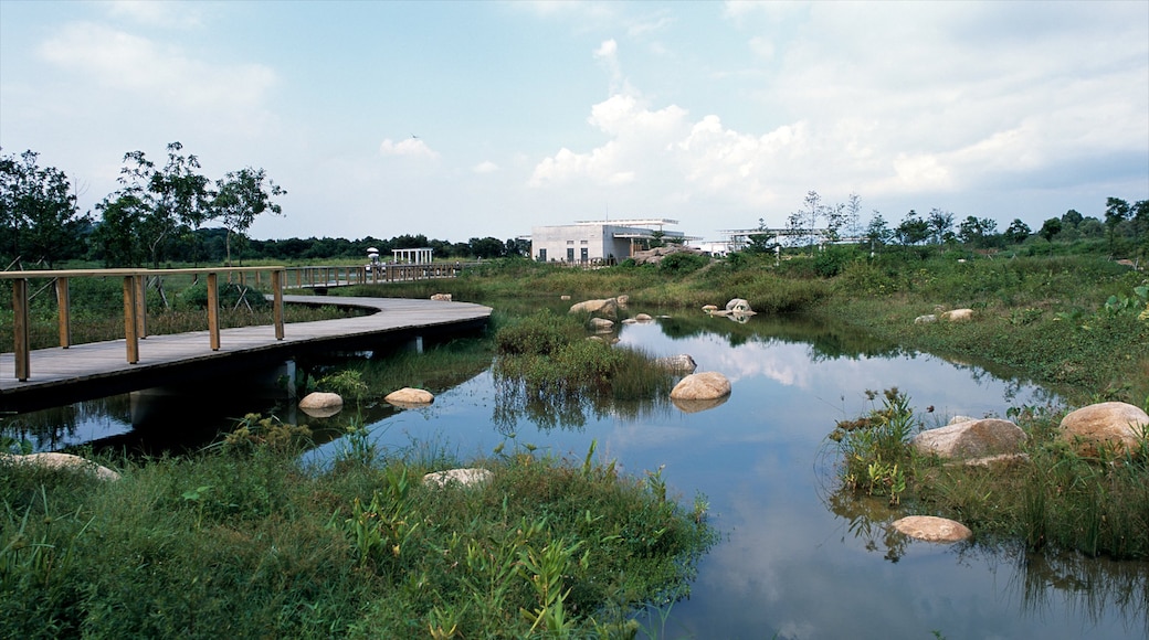
[[[830,274],[830,275],[826,275]],[[870,257],[735,255],[695,270],[592,271],[493,262],[453,281],[364,287],[363,295],[456,299],[523,309],[626,294],[631,307],[696,310],[740,297],[761,314],[805,313],[880,341],[1005,367],[1062,392],[1142,404],[1149,396],[1149,317],[1142,272],[1093,255],[984,257],[892,249]],[[972,309],[970,322],[915,325],[935,310]]]

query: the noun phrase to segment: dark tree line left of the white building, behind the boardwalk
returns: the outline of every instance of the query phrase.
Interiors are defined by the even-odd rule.
[[[172,142],[162,164],[136,150],[124,154],[119,188],[80,212],[74,185],[63,171],[41,167],[39,154],[0,154],[0,260],[5,270],[61,260],[87,260],[107,267],[159,267],[167,263],[233,264],[244,259],[365,259],[367,249],[430,247],[437,257],[487,259],[526,256],[530,242],[472,237],[468,242],[400,235],[391,240],[309,237],[252,240],[259,216],[283,214],[276,198],[286,190],[263,169],[245,167],[213,180],[199,158]]]

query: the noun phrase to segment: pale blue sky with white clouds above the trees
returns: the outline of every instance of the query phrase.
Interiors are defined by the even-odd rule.
[[[465,242],[816,190],[1004,229],[1149,198],[1149,1],[0,0],[0,149],[94,210],[124,154],[287,194],[256,239]]]

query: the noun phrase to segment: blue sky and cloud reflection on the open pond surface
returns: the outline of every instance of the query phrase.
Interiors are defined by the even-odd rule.
[[[1040,615],[1027,614],[1010,586],[1024,571],[1012,557],[911,543],[890,562],[880,530],[877,548],[867,551],[824,502],[824,438],[836,420],[871,406],[866,389],[896,385],[918,409],[934,405],[940,421],[1004,415],[1010,406],[1038,404],[1040,390],[932,356],[811,361],[803,343],[733,348],[712,334],[671,339],[655,323],[626,327],[622,344],[654,356],[689,353],[700,370],[731,378],[730,401],[696,414],[666,405],[640,421],[588,416],[578,430],[519,424],[517,442],[580,460],[595,439],[600,458],[617,459],[627,473],[664,466],[663,477],[684,501],[696,491],[707,495],[723,541],[702,560],[692,598],[671,609],[666,637],[932,638],[933,630],[948,638],[1143,635],[1143,619],[1126,619],[1126,629],[1111,608],[1089,615],[1051,590]],[[387,421],[383,440],[404,446],[410,438],[433,439],[463,459],[488,453],[503,440],[492,426],[492,406],[484,373],[440,395],[434,407]]]

